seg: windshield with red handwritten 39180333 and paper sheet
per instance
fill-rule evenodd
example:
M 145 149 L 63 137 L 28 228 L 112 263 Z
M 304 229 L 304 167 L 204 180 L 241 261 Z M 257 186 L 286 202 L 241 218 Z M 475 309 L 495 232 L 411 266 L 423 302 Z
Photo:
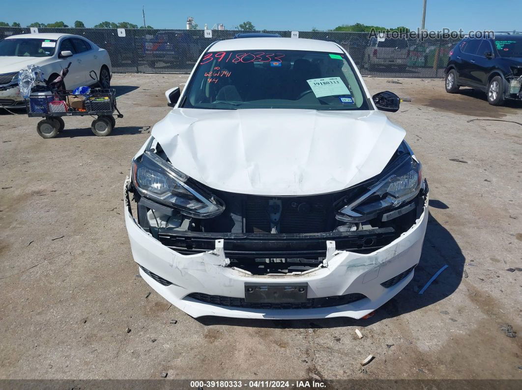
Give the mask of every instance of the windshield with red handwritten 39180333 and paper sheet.
M 346 56 L 307 51 L 208 52 L 180 107 L 368 110 Z

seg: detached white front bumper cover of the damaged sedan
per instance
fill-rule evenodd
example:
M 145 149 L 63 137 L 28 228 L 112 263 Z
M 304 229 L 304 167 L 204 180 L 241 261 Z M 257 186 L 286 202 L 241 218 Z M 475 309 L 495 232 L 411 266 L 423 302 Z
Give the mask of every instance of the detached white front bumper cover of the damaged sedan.
M 127 182 L 128 183 L 128 182 Z M 127 183 L 125 191 L 127 191 Z M 252 275 L 231 268 L 223 251 L 223 240 L 216 249 L 183 255 L 162 245 L 144 231 L 133 218 L 125 193 L 125 224 L 134 260 L 143 279 L 161 296 L 192 317 L 221 316 L 256 319 L 309 319 L 351 317 L 359 319 L 394 297 L 413 278 L 428 222 L 428 196 L 420 218 L 396 240 L 370 254 L 335 250 L 329 242 L 326 266 L 293 275 Z M 333 244 L 331 244 L 333 243 Z M 144 270 L 145 269 L 145 270 Z M 410 270 L 408 273 L 405 271 Z M 152 276 L 151 276 L 152 275 Z M 397 275 L 402 279 L 385 287 Z M 158 278 L 159 277 L 159 278 Z M 396 278 L 399 279 L 399 278 Z M 158 280 L 171 284 L 163 285 Z M 245 283 L 306 283 L 308 298 L 363 294 L 365 298 L 349 304 L 306 309 L 269 309 L 220 306 L 188 297 L 189 294 L 245 297 Z

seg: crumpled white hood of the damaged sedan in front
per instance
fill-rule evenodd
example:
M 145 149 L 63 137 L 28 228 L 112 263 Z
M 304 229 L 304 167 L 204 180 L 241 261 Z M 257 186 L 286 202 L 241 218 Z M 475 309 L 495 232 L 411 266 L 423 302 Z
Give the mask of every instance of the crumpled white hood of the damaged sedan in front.
M 405 131 L 379 111 L 176 108 L 152 129 L 172 165 L 217 190 L 341 191 L 380 173 Z

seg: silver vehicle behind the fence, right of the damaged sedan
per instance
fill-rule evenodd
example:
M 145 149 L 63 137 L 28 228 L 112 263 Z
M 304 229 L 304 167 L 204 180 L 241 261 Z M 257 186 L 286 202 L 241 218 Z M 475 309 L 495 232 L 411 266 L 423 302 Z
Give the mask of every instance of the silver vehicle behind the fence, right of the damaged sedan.
M 373 39 L 370 47 L 366 48 L 364 64 L 368 67 L 406 66 L 408 55 L 408 41 L 406 39 L 390 38 L 384 41 Z

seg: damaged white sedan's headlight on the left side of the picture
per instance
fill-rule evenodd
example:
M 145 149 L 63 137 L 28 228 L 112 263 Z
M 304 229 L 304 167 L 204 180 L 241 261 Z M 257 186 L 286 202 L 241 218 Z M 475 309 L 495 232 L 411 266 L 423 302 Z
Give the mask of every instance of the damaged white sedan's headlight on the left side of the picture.
M 203 188 L 187 185 L 187 175 L 177 171 L 167 161 L 147 150 L 133 160 L 133 183 L 141 195 L 174 207 L 195 218 L 212 218 L 224 210 L 221 200 Z

